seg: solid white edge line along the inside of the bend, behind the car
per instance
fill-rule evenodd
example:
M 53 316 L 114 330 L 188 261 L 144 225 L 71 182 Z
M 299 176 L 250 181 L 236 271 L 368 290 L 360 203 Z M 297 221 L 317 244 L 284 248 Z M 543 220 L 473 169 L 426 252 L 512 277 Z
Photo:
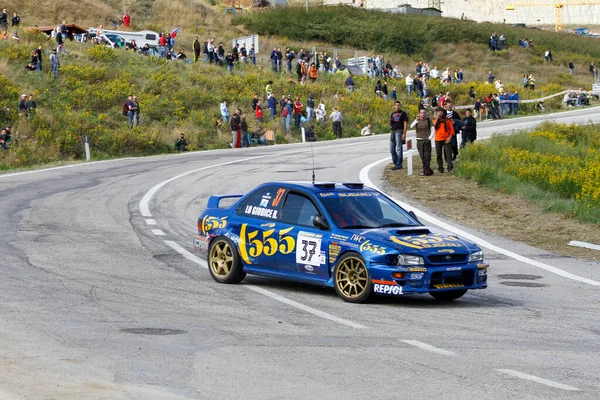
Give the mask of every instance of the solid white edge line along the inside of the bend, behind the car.
M 389 160 L 389 157 L 386 157 L 386 158 L 384 158 L 382 160 L 379 160 L 379 161 L 375 161 L 374 163 L 371 163 L 371 164 L 367 165 L 366 167 L 364 167 L 360 171 L 360 175 L 359 175 L 360 176 L 360 181 L 362 183 L 364 183 L 365 185 L 372 187 L 373 189 L 379 190 L 379 188 L 377 186 L 375 186 L 375 184 L 373 183 L 373 181 L 371 181 L 371 179 L 369 179 L 369 171 L 375 165 L 381 164 L 382 162 L 385 162 L 387 160 Z M 446 222 L 443 222 L 443 221 L 435 218 L 434 216 L 431 216 L 431 215 L 425 213 L 424 211 L 421 211 L 421 210 L 419 210 L 419 209 L 417 209 L 415 207 L 412 207 L 410 204 L 404 203 L 404 202 L 402 202 L 402 201 L 400 201 L 398 199 L 394 199 L 392 197 L 390 197 L 390 198 L 393 201 L 395 201 L 396 203 L 398 203 L 398 205 L 400 205 L 400 207 L 404 208 L 405 210 L 412 210 L 412 211 L 414 211 L 414 213 L 417 215 L 417 217 L 419 217 L 419 219 L 428 221 L 428 222 L 430 222 L 430 223 L 432 223 L 434 225 L 439 226 L 440 228 L 443 228 L 443 229 L 445 229 L 447 231 L 456 233 L 457 235 L 462 236 L 463 238 L 468 239 L 468 240 L 470 240 L 470 241 L 472 241 L 474 243 L 477 243 L 478 245 L 480 245 L 482 247 L 485 247 L 486 249 L 495 251 L 496 253 L 504 254 L 505 256 L 508 256 L 510 258 L 514 258 L 515 260 L 520 261 L 522 263 L 533 265 L 534 267 L 541 268 L 541 269 L 546 270 L 548 272 L 552 272 L 553 274 L 562 276 L 563 278 L 572 279 L 572 280 L 578 281 L 578 282 L 583 282 L 583 283 L 586 283 L 586 284 L 592 285 L 592 286 L 600 286 L 600 282 L 598 282 L 598 281 L 594 281 L 592 279 L 584 278 L 582 276 L 578 276 L 578 275 L 572 274 L 570 272 L 563 271 L 560 268 L 556 268 L 556 267 L 553 267 L 551 265 L 544 264 L 544 263 L 541 263 L 541 262 L 536 261 L 536 260 L 532 260 L 531 258 L 524 257 L 524 256 L 522 256 L 520 254 L 517 254 L 517 253 L 513 253 L 510 250 L 503 249 L 502 247 L 496 246 L 496 245 L 494 245 L 494 244 L 492 244 L 492 243 L 490 243 L 490 242 L 488 242 L 486 240 L 483 240 L 483 239 L 481 239 L 481 238 L 479 238 L 479 237 L 477 237 L 477 236 L 475 236 L 473 234 L 470 234 L 470 233 L 468 233 L 466 231 L 463 231 L 462 229 L 459 229 L 459 228 L 457 228 L 457 227 L 455 227 L 453 225 L 450 225 L 450 224 L 448 224 Z

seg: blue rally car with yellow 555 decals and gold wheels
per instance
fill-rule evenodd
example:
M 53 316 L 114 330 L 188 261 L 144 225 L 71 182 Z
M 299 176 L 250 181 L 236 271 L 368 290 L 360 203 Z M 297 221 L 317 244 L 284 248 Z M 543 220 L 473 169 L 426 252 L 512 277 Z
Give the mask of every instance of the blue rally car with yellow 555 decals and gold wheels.
M 450 301 L 487 287 L 477 245 L 434 232 L 361 183 L 270 182 L 211 196 L 194 247 L 217 282 L 289 279 L 333 287 L 355 303 L 415 293 Z

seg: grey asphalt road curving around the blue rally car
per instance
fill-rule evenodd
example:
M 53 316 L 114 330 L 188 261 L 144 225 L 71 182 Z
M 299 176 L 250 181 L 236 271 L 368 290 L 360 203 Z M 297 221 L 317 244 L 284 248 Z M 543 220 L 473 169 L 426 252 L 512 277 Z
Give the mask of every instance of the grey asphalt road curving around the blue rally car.
M 553 119 L 600 113 L 479 134 Z M 387 135 L 314 145 L 317 179 L 406 201 L 382 181 L 387 156 Z M 486 247 L 489 289 L 355 305 L 253 277 L 220 285 L 190 255 L 209 195 L 311 174 L 299 144 L 0 175 L 0 399 L 600 398 L 598 263 L 428 210 Z

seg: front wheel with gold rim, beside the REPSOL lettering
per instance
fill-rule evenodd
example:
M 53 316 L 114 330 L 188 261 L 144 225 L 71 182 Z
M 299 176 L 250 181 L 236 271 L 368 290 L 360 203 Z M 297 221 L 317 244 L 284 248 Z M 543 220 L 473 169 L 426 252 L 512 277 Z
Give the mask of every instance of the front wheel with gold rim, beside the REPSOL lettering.
M 360 254 L 346 253 L 333 270 L 333 286 L 342 300 L 364 303 L 371 296 L 373 285 L 365 260 Z

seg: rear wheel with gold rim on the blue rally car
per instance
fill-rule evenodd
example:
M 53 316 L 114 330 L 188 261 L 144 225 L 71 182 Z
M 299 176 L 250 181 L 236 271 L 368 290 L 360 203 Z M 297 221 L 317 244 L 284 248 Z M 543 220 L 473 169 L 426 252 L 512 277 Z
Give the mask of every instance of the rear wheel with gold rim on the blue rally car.
M 219 283 L 240 283 L 246 277 L 237 249 L 226 237 L 217 237 L 210 243 L 208 270 Z

